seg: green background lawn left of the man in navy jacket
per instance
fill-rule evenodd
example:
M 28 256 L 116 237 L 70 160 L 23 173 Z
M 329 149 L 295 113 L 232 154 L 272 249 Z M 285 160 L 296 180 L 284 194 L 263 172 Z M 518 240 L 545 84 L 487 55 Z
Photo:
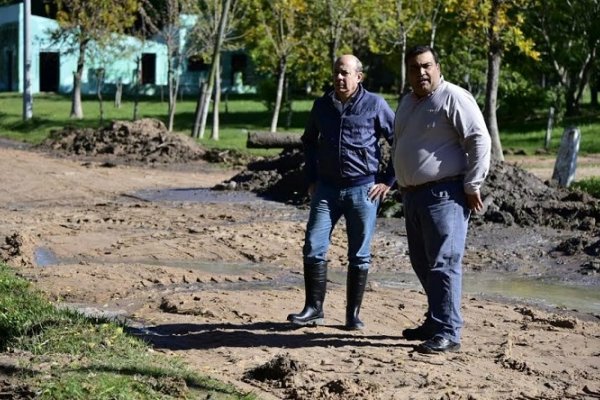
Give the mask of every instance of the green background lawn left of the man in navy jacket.
M 108 99 L 107 99 L 108 100 Z M 84 119 L 69 118 L 71 100 L 69 96 L 59 94 L 36 94 L 34 96 L 33 118 L 23 121 L 22 97 L 18 93 L 0 93 L 0 136 L 27 143 L 40 143 L 52 130 L 63 129 L 66 126 L 76 128 L 99 128 L 100 110 L 94 97 L 83 97 Z M 312 99 L 297 100 L 293 103 L 293 113 L 289 128 L 281 131 L 301 133 Z M 120 108 L 114 107 L 111 101 L 104 103 L 104 124 L 112 120 L 131 120 L 133 118 L 134 102 L 124 99 Z M 185 135 L 191 135 L 194 125 L 196 99 L 184 98 L 176 105 L 176 115 L 173 130 Z M 212 113 L 207 119 L 204 138 L 199 142 L 208 148 L 237 149 L 256 155 L 273 155 L 278 150 L 246 149 L 247 131 L 268 130 L 271 124 L 271 114 L 263 102 L 256 96 L 236 95 L 223 100 L 220 107 L 219 140 L 210 139 L 212 129 Z M 140 118 L 156 118 L 167 122 L 167 102 L 160 98 L 144 98 L 139 105 Z M 280 117 L 280 125 L 284 125 L 287 116 Z

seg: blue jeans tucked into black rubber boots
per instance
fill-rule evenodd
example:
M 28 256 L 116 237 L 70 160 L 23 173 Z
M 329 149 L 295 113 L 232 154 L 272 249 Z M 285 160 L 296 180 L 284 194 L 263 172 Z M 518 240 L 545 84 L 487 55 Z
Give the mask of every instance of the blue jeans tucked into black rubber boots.
M 305 264 L 327 261 L 333 228 L 344 216 L 348 235 L 350 268 L 369 269 L 371 237 L 375 230 L 379 200 L 369 200 L 372 183 L 337 188 L 318 182 L 310 202 L 302 254 Z

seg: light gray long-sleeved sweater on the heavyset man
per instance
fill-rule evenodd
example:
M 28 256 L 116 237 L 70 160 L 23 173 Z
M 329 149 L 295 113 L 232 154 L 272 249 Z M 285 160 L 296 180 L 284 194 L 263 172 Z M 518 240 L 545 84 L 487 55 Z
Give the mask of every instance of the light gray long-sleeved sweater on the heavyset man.
M 399 186 L 464 175 L 465 193 L 479 191 L 490 166 L 491 140 L 473 96 L 441 80 L 427 97 L 402 98 L 392 146 Z

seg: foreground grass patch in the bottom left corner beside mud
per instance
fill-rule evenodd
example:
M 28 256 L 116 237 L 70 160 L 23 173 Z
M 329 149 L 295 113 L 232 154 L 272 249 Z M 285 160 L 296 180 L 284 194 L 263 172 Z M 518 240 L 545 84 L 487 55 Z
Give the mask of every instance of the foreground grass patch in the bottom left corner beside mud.
M 153 352 L 119 324 L 57 309 L 2 263 L 0 290 L 0 350 L 30 355 L 13 373 L 37 398 L 256 398 Z

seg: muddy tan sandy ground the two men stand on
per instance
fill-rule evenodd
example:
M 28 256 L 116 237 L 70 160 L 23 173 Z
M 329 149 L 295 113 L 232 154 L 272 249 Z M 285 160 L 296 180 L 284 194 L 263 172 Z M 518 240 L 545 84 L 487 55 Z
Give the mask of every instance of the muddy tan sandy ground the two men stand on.
M 0 168 L 0 237 L 20 273 L 57 304 L 114 315 L 156 349 L 262 399 L 600 398 L 594 312 L 465 295 L 462 351 L 416 353 L 401 331 L 420 320 L 423 293 L 381 278 L 411 275 L 400 219 L 379 221 L 366 329 L 340 329 L 342 227 L 330 251 L 327 325 L 292 329 L 285 317 L 304 299 L 306 209 L 205 191 L 204 201 L 147 201 L 150 190 L 209 188 L 236 172 L 202 162 L 107 168 L 0 148 Z M 553 253 L 561 235 L 474 226 L 465 269 L 598 287 L 578 274 L 584 260 Z

